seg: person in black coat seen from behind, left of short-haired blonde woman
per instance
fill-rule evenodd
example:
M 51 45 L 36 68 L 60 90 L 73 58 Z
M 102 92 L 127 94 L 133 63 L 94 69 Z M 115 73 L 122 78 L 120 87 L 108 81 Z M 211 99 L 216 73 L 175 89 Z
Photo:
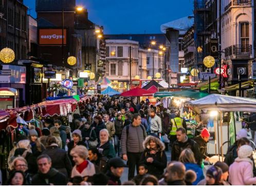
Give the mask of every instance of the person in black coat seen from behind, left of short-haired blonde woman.
M 67 178 L 70 176 L 72 165 L 67 153 L 58 147 L 57 139 L 53 136 L 47 138 L 47 149 L 43 154 L 51 158 L 52 167 L 64 174 Z

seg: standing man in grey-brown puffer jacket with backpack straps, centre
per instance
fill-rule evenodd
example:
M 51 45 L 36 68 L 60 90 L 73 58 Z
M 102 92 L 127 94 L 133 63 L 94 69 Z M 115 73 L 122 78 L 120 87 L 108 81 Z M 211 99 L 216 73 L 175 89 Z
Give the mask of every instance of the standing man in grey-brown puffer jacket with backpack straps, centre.
M 134 114 L 132 124 L 127 125 L 122 130 L 121 146 L 123 159 L 128 160 L 129 166 L 128 180 L 134 178 L 135 167 L 138 174 L 141 154 L 144 151 L 143 141 L 147 137 L 147 132 L 141 125 L 141 117 Z

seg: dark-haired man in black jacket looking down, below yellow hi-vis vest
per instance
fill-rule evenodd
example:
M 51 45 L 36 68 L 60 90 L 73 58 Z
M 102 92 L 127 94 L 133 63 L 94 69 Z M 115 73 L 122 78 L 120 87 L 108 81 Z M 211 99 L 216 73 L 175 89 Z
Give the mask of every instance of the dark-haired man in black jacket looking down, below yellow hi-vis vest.
M 178 128 L 176 130 L 177 140 L 172 144 L 172 158 L 171 160 L 179 160 L 179 156 L 182 150 L 185 148 L 190 148 L 191 151 L 194 153 L 195 160 L 197 164 L 200 165 L 202 160 L 200 157 L 199 147 L 198 144 L 187 137 L 186 129 L 185 128 Z

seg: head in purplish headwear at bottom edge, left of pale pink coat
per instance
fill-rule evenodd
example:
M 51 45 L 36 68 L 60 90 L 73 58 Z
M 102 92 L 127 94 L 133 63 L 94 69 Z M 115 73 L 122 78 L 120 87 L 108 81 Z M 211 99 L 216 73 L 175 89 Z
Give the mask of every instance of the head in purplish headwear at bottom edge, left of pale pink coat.
M 221 182 L 222 171 L 219 167 L 211 166 L 206 171 L 206 184 L 207 185 L 218 185 Z

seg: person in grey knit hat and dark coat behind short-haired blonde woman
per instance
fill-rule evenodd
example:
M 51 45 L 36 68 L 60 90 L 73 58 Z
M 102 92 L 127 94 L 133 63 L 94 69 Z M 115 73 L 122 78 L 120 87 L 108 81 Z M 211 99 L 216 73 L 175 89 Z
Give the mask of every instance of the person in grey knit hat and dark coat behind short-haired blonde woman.
M 72 156 L 70 155 L 70 151 L 72 148 L 76 147 L 77 145 L 83 145 L 86 147 L 86 144 L 82 141 L 82 134 L 81 130 L 76 129 L 72 132 L 72 138 L 73 140 L 68 143 L 67 145 L 67 155 L 69 157 L 69 160 L 71 161 L 72 166 L 75 165 L 75 162 L 73 161 Z

